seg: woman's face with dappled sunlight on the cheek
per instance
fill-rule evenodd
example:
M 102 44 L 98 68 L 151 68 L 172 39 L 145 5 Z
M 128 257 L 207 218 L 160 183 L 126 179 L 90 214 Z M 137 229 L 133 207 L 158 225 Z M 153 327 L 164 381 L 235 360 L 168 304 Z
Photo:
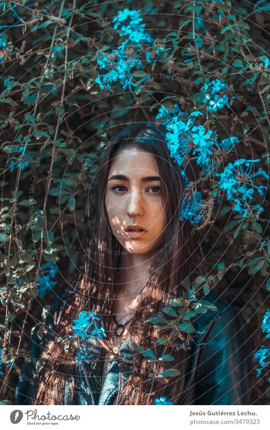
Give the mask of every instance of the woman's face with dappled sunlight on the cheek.
M 167 219 L 159 175 L 155 157 L 137 147 L 122 150 L 110 163 L 105 207 L 112 233 L 131 253 L 155 254 L 163 242 Z

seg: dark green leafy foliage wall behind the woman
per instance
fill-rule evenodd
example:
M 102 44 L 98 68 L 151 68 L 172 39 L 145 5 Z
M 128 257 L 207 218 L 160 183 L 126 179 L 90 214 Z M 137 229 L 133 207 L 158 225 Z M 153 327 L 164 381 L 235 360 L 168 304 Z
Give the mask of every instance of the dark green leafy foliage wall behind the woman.
M 112 31 L 113 17 L 124 8 L 133 10 L 134 2 L 0 5 L 0 329 L 2 360 L 8 356 L 1 375 L 2 380 L 8 376 L 0 397 L 4 403 L 13 403 L 31 330 L 45 321 L 44 306 L 66 288 L 78 264 L 79 238 L 95 208 L 102 147 L 115 126 L 155 122 L 161 102 L 169 109 L 177 103 L 188 111 L 197 103 L 198 93 L 190 82 L 203 85 L 224 76 L 242 97 L 232 99 L 229 110 L 217 111 L 214 122 L 206 120 L 222 138 L 239 138 L 239 158 L 260 158 L 260 166 L 268 168 L 267 2 L 136 2 L 145 31 L 154 41 L 148 50 L 151 63 L 144 61 L 140 50 L 144 72 L 156 75 L 144 82 L 134 77 L 131 91 L 123 91 L 120 82 L 101 90 L 95 82 L 100 73 L 97 57 L 125 40 L 125 35 Z M 202 191 L 206 196 L 209 190 Z M 260 324 L 269 306 L 267 197 L 237 264 L 232 265 L 233 256 L 250 225 L 238 228 L 239 219 L 225 204 L 215 207 L 211 228 L 197 232 L 206 257 L 205 288 L 215 288 L 241 309 L 252 331 L 251 354 L 263 342 L 266 345 Z M 48 288 L 43 294 L 38 285 L 45 276 L 53 291 Z M 38 329 L 42 337 L 43 325 Z M 253 365 L 251 403 L 268 403 L 267 376 L 256 377 Z

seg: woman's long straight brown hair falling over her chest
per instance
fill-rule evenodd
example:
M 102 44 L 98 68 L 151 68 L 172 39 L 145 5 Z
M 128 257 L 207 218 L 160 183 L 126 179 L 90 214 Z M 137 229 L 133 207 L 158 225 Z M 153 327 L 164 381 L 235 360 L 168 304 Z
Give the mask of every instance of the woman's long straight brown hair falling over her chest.
M 152 153 L 157 161 L 161 181 L 161 193 L 164 209 L 167 214 L 167 225 L 164 242 L 151 261 L 149 276 L 146 284 L 147 294 L 137 310 L 134 311 L 129 328 L 129 336 L 136 339 L 138 345 L 144 349 L 152 348 L 157 357 L 160 357 L 164 346 L 157 344 L 158 330 L 145 320 L 158 315 L 162 307 L 169 304 L 171 298 L 184 294 L 181 282 L 194 276 L 196 258 L 189 221 L 180 221 L 180 211 L 184 182 L 179 166 L 174 163 L 165 140 L 165 129 L 157 128 L 151 123 L 134 124 L 124 127 L 111 138 L 112 144 L 107 145 L 101 157 L 101 166 L 98 172 L 98 196 L 96 216 L 89 215 L 83 242 L 83 255 L 81 269 L 77 282 L 71 285 L 67 299 L 62 308 L 61 318 L 57 325 L 59 336 L 72 335 L 73 319 L 78 318 L 82 310 L 94 311 L 102 317 L 106 337 L 100 340 L 102 357 L 106 352 L 112 351 L 113 342 L 107 332 L 108 321 L 112 312 L 113 299 L 117 293 L 114 279 L 118 268 L 121 267 L 120 244 L 108 228 L 104 195 L 107 186 L 108 171 L 111 160 L 118 151 L 127 147 L 139 147 Z M 89 231 L 89 224 L 94 225 Z M 93 227 L 92 227 L 93 228 Z M 98 240 L 97 240 L 98 238 Z M 108 252 L 110 250 L 110 252 Z M 164 334 L 166 336 L 166 333 Z M 76 350 L 71 344 L 66 353 L 60 349 L 59 343 L 50 339 L 41 359 L 59 359 L 63 357 L 69 364 L 58 364 L 50 367 L 50 361 L 37 373 L 35 377 L 34 404 L 61 405 L 64 404 L 64 390 L 67 377 L 72 380 L 69 403 L 75 390 L 76 363 L 74 362 Z M 160 354 L 160 355 L 159 355 Z M 165 396 L 177 403 L 184 386 L 186 371 L 186 351 L 181 348 L 174 352 L 173 362 L 159 361 L 148 363 L 142 354 L 134 355 L 133 369 L 126 384 L 120 386 L 117 404 L 146 405 L 153 404 L 155 397 Z M 175 367 L 180 375 L 169 378 L 166 385 L 158 380 L 149 381 L 149 373 L 161 373 L 165 369 Z M 52 371 L 53 370 L 53 371 Z M 155 396 L 149 396 L 149 392 Z

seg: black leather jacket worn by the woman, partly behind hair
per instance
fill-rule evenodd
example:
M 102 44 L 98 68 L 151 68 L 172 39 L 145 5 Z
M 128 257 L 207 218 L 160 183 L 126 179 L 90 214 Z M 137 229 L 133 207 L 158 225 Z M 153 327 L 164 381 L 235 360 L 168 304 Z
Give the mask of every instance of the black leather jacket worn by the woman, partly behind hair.
M 250 330 L 236 308 L 215 292 L 211 291 L 202 298 L 215 304 L 217 311 L 208 310 L 192 320 L 196 334 L 187 351 L 185 386 L 176 404 L 249 405 L 252 360 Z M 52 314 L 53 312 L 47 319 L 50 327 L 53 327 Z M 32 404 L 35 363 L 44 348 L 45 339 L 46 337 L 40 341 L 36 335 L 33 336 L 30 354 L 34 360 L 24 362 L 16 388 L 15 405 Z M 136 351 L 136 345 L 131 344 L 127 337 L 120 347 L 120 353 L 126 359 L 125 364 L 120 364 L 120 374 L 124 381 L 132 372 L 134 350 Z M 93 367 L 90 369 L 87 362 L 78 362 L 79 376 L 76 379 L 73 401 L 70 403 L 71 379 L 67 376 L 64 404 L 114 404 L 119 386 L 119 363 L 116 360 L 111 362 L 101 388 L 95 376 L 101 374 L 102 367 L 101 360 L 96 361 L 94 370 Z

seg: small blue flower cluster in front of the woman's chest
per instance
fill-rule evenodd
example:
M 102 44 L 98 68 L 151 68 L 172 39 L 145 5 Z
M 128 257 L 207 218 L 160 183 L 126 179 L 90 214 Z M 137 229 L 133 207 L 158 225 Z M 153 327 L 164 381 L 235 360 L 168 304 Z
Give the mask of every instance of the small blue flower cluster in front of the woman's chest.
M 101 321 L 101 318 L 96 317 L 94 312 L 82 310 L 79 314 L 78 319 L 73 320 L 74 325 L 72 326 L 72 330 L 75 333 L 75 336 L 78 336 L 79 343 L 79 352 L 76 355 L 76 360 L 86 360 L 93 357 L 91 354 L 91 346 L 89 347 L 85 340 L 86 339 L 103 339 L 105 337 L 104 327 L 101 325 L 98 327 L 96 321 Z M 70 339 L 73 339 L 74 336 L 70 335 Z

